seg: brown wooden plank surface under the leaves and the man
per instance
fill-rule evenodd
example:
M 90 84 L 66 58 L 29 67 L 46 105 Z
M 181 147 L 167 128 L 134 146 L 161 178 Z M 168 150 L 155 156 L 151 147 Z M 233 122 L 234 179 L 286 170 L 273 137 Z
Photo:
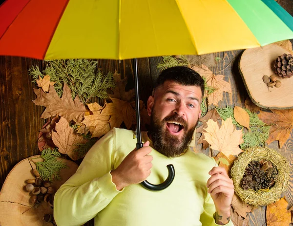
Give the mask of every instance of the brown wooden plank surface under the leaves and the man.
M 293 15 L 293 0 L 277 0 L 277 2 Z M 231 28 L 233 29 L 233 28 Z M 276 28 L 277 32 L 277 28 Z M 216 34 L 215 34 L 216 36 Z M 243 51 L 229 51 L 215 53 L 215 57 L 223 60 L 217 62 L 211 70 L 225 75 L 225 80 L 232 86 L 232 94 L 225 94 L 220 107 L 244 106 L 244 100 L 248 96 L 243 81 L 238 72 L 238 59 Z M 140 99 L 145 103 L 152 92 L 153 82 L 159 74 L 157 69 L 161 57 L 138 59 Z M 131 60 L 98 60 L 102 71 L 114 72 L 117 70 L 122 75 L 128 76 L 126 89 L 133 88 L 133 69 Z M 33 104 L 36 98 L 33 93 L 35 85 L 31 82 L 28 69 L 38 65 L 42 71 L 44 65 L 41 60 L 24 57 L 0 57 L 0 188 L 9 171 L 22 159 L 39 154 L 37 137 L 39 130 L 45 121 L 40 119 L 41 106 Z M 273 142 L 269 147 L 277 149 L 290 161 L 291 167 L 291 187 L 287 193 L 293 193 L 293 134 L 280 150 L 277 142 Z M 199 150 L 201 147 L 198 147 Z M 290 196 L 291 197 L 291 196 Z M 293 203 L 293 200 L 289 200 Z M 251 226 L 266 225 L 265 207 L 260 207 L 250 214 Z M 93 225 L 92 221 L 87 225 Z

